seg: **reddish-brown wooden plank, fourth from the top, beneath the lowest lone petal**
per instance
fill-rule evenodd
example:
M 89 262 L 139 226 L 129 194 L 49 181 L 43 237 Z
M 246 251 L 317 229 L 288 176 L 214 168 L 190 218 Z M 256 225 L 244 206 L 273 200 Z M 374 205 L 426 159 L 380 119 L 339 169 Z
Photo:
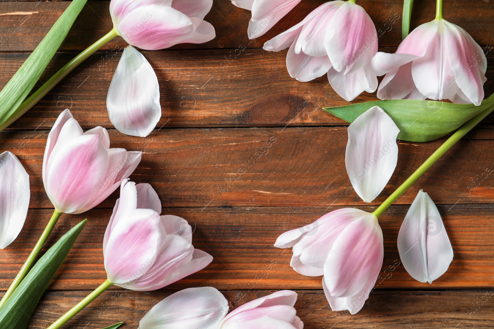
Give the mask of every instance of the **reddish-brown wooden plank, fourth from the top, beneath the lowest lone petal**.
M 321 289 L 321 277 L 307 277 L 289 266 L 291 250 L 274 248 L 283 232 L 310 224 L 339 207 L 163 208 L 194 229 L 193 243 L 214 257 L 206 269 L 169 286 L 184 289 L 210 285 L 227 290 Z M 374 207 L 359 207 L 372 211 Z M 494 285 L 494 205 L 439 205 L 454 258 L 448 271 L 431 285 L 412 279 L 400 264 L 396 239 L 409 206 L 392 206 L 379 219 L 384 261 L 378 289 L 491 289 Z M 72 225 L 87 218 L 73 250 L 49 290 L 91 290 L 106 279 L 102 243 L 111 209 L 63 215 L 47 246 Z M 0 252 L 0 290 L 6 290 L 41 235 L 51 210 L 30 210 L 19 237 Z M 178 222 L 177 225 L 181 225 Z

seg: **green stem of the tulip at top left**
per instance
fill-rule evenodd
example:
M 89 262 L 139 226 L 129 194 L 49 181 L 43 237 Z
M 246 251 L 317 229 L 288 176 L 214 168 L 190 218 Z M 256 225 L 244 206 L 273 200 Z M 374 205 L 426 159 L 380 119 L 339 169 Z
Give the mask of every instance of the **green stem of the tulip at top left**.
M 20 118 L 24 113 L 38 103 L 41 98 L 44 97 L 60 80 L 62 80 L 67 74 L 72 72 L 79 64 L 81 64 L 86 58 L 94 54 L 102 46 L 110 42 L 114 37 L 117 37 L 118 33 L 115 28 L 108 32 L 104 37 L 87 47 L 82 53 L 74 57 L 69 63 L 67 63 L 63 68 L 58 70 L 57 73 L 53 74 L 52 77 L 48 79 L 43 85 L 35 91 L 31 96 L 26 98 L 24 102 L 19 105 L 19 107 L 12 113 L 10 118 L 6 120 L 2 125 L 0 125 L 0 131 L 8 127 L 12 122 Z

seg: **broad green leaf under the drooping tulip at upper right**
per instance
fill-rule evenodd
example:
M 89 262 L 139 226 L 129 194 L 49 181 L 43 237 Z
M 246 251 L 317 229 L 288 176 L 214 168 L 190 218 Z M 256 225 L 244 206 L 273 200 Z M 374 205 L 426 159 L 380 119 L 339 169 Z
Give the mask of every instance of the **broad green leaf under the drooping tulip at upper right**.
M 483 110 L 494 104 L 494 94 L 473 104 L 452 104 L 437 101 L 388 100 L 324 108 L 329 113 L 352 123 L 360 114 L 373 106 L 383 109 L 400 129 L 402 141 L 428 142 L 448 135 Z

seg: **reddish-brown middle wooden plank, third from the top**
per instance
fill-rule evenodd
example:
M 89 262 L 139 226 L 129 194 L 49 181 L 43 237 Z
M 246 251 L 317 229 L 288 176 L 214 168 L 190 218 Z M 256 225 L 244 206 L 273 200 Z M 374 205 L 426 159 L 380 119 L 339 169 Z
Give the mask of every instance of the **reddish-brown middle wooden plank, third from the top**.
M 397 204 L 411 204 L 420 188 L 438 204 L 491 203 L 494 141 L 493 131 L 488 133 L 490 140 L 470 135 L 458 142 Z M 147 138 L 109 134 L 112 147 L 144 152 L 131 179 L 152 183 L 165 207 L 364 204 L 346 173 L 344 127 L 161 129 Z M 41 179 L 47 135 L 0 133 L 2 149 L 17 154 L 31 177 L 31 208 L 52 207 Z M 395 174 L 372 204 L 383 202 L 442 143 L 400 142 Z M 116 197 L 100 207 L 112 208 Z

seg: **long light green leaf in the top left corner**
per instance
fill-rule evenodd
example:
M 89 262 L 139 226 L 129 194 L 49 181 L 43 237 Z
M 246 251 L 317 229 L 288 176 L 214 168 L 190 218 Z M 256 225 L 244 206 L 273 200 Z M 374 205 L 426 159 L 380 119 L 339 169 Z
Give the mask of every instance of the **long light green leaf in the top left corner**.
M 41 77 L 87 0 L 73 0 L 0 92 L 0 130 L 19 118 L 15 110 Z M 27 36 L 29 37 L 29 36 Z

